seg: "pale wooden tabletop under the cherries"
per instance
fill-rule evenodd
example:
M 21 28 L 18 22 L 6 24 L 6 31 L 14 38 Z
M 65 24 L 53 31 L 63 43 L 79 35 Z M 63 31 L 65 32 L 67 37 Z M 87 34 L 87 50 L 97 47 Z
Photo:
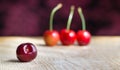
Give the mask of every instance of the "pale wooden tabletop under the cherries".
M 16 48 L 24 42 L 37 46 L 31 62 L 19 62 Z M 88 46 L 45 46 L 41 37 L 0 37 L 0 70 L 120 70 L 120 37 L 93 36 Z

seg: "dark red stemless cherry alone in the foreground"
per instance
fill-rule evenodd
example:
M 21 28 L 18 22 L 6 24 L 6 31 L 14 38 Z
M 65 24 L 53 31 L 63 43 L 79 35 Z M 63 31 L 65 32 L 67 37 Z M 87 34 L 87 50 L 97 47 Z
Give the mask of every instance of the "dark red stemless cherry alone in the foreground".
M 32 43 L 22 43 L 17 47 L 16 55 L 19 61 L 29 62 L 36 58 L 37 49 Z

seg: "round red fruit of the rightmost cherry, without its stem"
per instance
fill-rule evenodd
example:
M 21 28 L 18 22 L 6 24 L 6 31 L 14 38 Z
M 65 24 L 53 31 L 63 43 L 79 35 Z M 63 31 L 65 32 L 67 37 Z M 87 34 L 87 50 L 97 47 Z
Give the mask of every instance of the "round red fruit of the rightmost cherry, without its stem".
M 90 43 L 91 34 L 86 30 L 79 30 L 77 32 L 77 41 L 81 46 L 88 45 Z

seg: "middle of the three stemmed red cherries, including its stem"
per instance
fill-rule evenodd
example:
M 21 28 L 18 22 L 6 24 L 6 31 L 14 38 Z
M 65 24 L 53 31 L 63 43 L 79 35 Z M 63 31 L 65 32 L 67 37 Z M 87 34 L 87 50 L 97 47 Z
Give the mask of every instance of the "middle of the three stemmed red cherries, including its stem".
M 76 34 L 73 30 L 70 30 L 71 21 L 74 14 L 74 6 L 71 6 L 67 28 L 60 31 L 60 40 L 63 45 L 72 45 L 76 40 Z

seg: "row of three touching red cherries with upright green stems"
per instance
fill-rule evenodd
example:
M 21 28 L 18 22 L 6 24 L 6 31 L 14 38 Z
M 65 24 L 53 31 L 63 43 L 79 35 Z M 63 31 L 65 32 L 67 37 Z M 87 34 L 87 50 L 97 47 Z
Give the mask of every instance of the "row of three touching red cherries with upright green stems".
M 62 7 L 62 4 L 58 4 L 55 8 L 53 8 L 51 15 L 50 15 L 50 29 L 45 31 L 43 37 L 45 44 L 47 46 L 54 46 L 58 43 L 60 40 L 63 45 L 72 45 L 74 44 L 75 40 L 77 39 L 77 42 L 79 45 L 88 45 L 91 39 L 91 34 L 86 30 L 85 25 L 85 19 L 82 13 L 82 9 L 78 8 L 78 13 L 80 15 L 81 21 L 82 21 L 82 30 L 79 30 L 77 33 L 75 33 L 73 30 L 70 30 L 71 21 L 74 14 L 74 6 L 71 6 L 70 8 L 70 14 L 68 17 L 67 27 L 66 29 L 62 29 L 59 32 L 56 30 L 53 30 L 53 16 L 54 13 L 59 10 Z

